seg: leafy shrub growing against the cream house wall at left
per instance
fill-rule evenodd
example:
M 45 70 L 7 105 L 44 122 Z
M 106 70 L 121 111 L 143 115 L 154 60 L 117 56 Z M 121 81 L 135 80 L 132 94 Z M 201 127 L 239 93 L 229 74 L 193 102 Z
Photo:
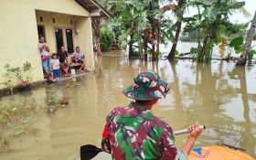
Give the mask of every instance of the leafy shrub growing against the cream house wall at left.
M 16 87 L 19 91 L 31 90 L 31 78 L 29 76 L 31 64 L 26 62 L 22 67 L 11 67 L 9 64 L 5 65 L 6 76 L 16 79 Z

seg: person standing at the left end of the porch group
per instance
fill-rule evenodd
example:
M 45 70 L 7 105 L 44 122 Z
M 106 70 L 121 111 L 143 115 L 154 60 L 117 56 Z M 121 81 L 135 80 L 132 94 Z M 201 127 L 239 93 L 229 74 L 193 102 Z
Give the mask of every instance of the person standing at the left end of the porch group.
M 48 74 L 48 81 L 55 81 L 53 79 L 52 70 L 50 69 L 50 66 L 49 66 L 49 54 L 48 54 L 49 48 L 47 43 L 45 42 L 45 37 L 43 36 L 39 37 L 38 48 L 41 55 L 43 69 Z

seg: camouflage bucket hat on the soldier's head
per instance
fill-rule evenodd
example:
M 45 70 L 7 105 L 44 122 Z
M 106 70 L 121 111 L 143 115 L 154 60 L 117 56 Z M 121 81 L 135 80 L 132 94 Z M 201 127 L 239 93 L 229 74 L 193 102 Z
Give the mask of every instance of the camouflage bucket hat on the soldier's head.
M 165 98 L 169 85 L 160 80 L 157 73 L 144 71 L 133 79 L 133 85 L 123 90 L 123 94 L 133 100 L 149 101 Z

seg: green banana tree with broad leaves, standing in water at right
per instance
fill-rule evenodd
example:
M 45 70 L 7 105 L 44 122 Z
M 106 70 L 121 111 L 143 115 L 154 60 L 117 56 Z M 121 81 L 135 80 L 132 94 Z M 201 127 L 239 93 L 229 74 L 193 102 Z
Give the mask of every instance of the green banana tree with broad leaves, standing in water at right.
M 211 59 L 212 48 L 218 45 L 221 40 L 221 34 L 229 32 L 230 35 L 239 32 L 239 27 L 229 21 L 229 15 L 233 11 L 240 9 L 244 2 L 232 2 L 229 0 L 215 1 L 193 1 L 188 2 L 189 5 L 197 5 L 203 9 L 203 12 L 195 16 L 188 17 L 185 30 L 193 31 L 200 28 L 202 34 L 202 45 L 197 47 L 197 61 L 208 62 Z M 201 16 L 201 20 L 198 17 Z M 186 19 L 186 18 L 185 18 Z M 199 23 L 198 23 L 199 22 Z

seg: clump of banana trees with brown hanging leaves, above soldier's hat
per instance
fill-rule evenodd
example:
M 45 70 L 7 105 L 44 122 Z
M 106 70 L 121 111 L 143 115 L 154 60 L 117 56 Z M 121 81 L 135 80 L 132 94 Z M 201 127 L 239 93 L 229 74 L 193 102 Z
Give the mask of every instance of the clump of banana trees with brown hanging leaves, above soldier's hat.
M 120 27 L 123 30 L 120 40 L 129 46 L 130 59 L 135 56 L 134 50 L 138 50 L 138 55 L 145 60 L 147 51 L 150 50 L 152 58 L 157 59 L 160 52 L 159 44 L 162 42 L 162 29 L 169 22 L 162 19 L 161 14 L 158 1 L 140 0 L 123 3 L 119 16 Z M 166 30 L 168 29 L 163 30 L 163 35 Z M 127 41 L 126 37 L 130 39 Z

